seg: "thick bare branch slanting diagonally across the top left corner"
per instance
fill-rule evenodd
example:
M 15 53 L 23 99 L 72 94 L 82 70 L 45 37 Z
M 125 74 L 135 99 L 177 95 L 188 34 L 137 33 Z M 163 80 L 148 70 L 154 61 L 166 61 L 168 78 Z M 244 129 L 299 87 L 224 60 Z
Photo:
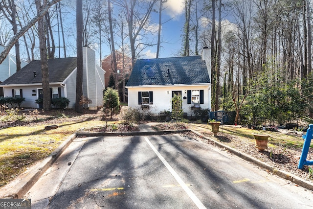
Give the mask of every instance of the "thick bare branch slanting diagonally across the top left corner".
M 11 48 L 14 46 L 14 44 L 19 40 L 19 38 L 22 37 L 22 35 L 29 29 L 31 28 L 35 23 L 40 20 L 45 13 L 48 11 L 48 9 L 55 3 L 59 2 L 61 0 L 51 0 L 49 1 L 46 6 L 43 8 L 43 10 L 36 16 L 34 17 L 27 25 L 22 27 L 22 29 L 17 32 L 9 41 L 9 43 L 4 47 L 4 50 L 0 54 L 0 64 L 5 60 L 7 55 L 9 54 Z

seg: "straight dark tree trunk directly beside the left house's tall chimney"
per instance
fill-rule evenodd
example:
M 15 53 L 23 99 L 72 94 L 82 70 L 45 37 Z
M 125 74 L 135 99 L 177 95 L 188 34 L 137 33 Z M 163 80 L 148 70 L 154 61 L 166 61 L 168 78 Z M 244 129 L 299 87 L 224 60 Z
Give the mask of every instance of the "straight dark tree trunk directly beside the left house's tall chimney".
M 75 111 L 83 113 L 83 106 L 80 105 L 80 99 L 83 96 L 83 0 L 76 1 L 76 25 L 77 72 Z

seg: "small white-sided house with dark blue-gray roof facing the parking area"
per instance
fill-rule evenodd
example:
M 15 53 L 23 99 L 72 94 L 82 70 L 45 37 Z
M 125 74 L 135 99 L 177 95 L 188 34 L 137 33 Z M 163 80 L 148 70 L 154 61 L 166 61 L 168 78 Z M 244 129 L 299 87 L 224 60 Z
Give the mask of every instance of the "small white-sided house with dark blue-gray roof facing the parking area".
M 201 56 L 137 60 L 128 80 L 128 106 L 157 115 L 172 111 L 172 97 L 182 97 L 182 109 L 193 116 L 195 108 L 211 109 L 208 48 Z

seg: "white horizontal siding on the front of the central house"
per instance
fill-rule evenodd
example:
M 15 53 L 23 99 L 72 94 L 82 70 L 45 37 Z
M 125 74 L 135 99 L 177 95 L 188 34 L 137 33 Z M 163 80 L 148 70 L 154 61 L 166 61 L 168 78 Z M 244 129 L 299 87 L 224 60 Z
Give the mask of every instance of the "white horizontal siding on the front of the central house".
M 210 99 L 211 98 L 211 85 L 203 86 L 162 86 L 162 87 L 128 87 L 128 106 L 131 108 L 141 109 L 141 105 L 138 104 L 138 92 L 153 92 L 153 104 L 149 105 L 149 110 L 144 108 L 144 111 L 150 111 L 150 113 L 157 115 L 160 112 L 166 110 L 172 112 L 172 91 L 181 91 L 182 109 L 187 116 L 193 115 L 191 106 L 194 104 L 187 104 L 187 91 L 188 90 L 203 90 L 203 101 L 204 104 L 200 104 L 202 109 L 211 109 Z M 167 93 L 169 92 L 169 93 Z

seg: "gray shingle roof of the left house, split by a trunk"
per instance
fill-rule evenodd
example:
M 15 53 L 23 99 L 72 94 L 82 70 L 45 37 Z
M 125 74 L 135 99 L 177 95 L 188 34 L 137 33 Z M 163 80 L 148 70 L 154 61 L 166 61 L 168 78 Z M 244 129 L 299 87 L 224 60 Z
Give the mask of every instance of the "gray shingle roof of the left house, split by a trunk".
M 49 82 L 59 83 L 64 81 L 67 76 L 75 70 L 77 65 L 76 57 L 48 59 Z M 34 77 L 34 72 L 36 76 Z M 10 84 L 37 84 L 42 83 L 41 61 L 34 60 L 23 67 L 18 72 L 1 83 Z

